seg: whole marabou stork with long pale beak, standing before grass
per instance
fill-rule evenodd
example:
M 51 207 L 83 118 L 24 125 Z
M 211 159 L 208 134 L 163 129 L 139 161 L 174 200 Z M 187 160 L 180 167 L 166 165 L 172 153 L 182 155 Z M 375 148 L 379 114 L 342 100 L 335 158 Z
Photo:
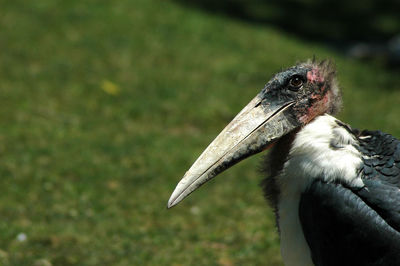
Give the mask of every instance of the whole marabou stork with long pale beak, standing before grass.
M 400 141 L 334 118 L 335 67 L 276 74 L 186 172 L 168 207 L 270 147 L 264 194 L 285 265 L 400 265 Z

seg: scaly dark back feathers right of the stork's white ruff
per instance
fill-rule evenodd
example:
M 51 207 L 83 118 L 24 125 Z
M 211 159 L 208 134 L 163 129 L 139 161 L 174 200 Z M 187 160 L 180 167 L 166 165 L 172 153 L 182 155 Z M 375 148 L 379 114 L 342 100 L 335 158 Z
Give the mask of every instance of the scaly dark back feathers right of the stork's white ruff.
M 365 187 L 354 192 L 400 232 L 400 141 L 390 134 L 368 130 L 361 132 L 358 140 Z

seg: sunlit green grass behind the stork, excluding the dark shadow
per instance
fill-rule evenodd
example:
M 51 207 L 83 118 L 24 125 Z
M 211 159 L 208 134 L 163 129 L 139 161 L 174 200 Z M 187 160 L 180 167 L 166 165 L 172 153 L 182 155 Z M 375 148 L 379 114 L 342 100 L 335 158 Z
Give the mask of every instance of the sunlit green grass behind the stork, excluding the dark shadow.
M 260 156 L 166 203 L 270 76 L 313 55 L 337 62 L 341 119 L 400 136 L 394 73 L 271 27 L 162 0 L 0 3 L 1 265 L 281 265 Z

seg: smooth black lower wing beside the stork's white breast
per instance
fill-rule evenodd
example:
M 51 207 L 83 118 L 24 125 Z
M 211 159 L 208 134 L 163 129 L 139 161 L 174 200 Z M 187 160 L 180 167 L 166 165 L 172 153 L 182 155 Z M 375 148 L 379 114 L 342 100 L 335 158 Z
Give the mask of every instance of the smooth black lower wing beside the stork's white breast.
M 400 265 L 400 234 L 352 190 L 316 180 L 299 217 L 315 265 Z

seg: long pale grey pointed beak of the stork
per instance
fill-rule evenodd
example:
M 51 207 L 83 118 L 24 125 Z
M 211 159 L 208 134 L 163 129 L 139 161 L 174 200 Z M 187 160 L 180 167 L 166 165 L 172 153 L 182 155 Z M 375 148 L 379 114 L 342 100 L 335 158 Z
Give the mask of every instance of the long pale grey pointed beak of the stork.
M 297 127 L 290 115 L 293 103 L 268 103 L 263 100 L 262 93 L 257 95 L 185 173 L 168 201 L 168 208 L 178 204 L 222 171 L 263 151 L 269 144 Z

